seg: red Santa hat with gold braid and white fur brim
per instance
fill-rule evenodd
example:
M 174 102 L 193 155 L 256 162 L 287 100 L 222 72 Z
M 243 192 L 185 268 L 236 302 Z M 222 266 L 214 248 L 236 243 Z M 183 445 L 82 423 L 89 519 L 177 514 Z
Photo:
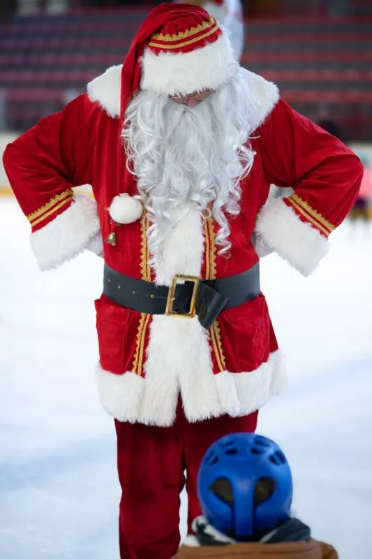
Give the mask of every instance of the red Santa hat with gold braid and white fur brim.
M 137 89 L 190 94 L 216 89 L 236 63 L 229 38 L 198 6 L 162 3 L 137 31 L 121 71 L 121 115 Z

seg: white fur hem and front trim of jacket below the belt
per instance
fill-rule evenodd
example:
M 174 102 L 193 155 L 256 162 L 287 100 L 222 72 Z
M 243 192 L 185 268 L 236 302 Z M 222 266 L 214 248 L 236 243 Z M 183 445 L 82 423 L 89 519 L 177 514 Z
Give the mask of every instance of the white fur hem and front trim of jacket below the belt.
M 114 375 L 97 368 L 101 403 L 106 412 L 119 421 L 171 426 L 179 391 L 188 421 L 202 421 L 223 414 L 245 416 L 260 409 L 284 386 L 280 351 L 270 354 L 267 363 L 262 363 L 255 371 L 224 371 L 214 375 L 209 363 L 209 348 L 204 342 L 198 343 L 200 338 L 206 340 L 207 337 L 205 331 L 204 336 L 200 336 L 198 319 L 181 321 L 163 316 L 154 319 L 161 319 L 162 326 L 167 327 L 163 342 L 158 337 L 156 344 L 154 341 L 151 344 L 150 339 L 145 379 L 133 372 Z M 184 328 L 180 330 L 175 326 L 176 320 Z M 172 331 L 177 335 L 168 342 L 166 336 Z M 151 337 L 153 335 L 151 331 Z M 174 345 L 176 337 L 179 338 L 177 346 Z M 197 347 L 192 346 L 195 342 Z

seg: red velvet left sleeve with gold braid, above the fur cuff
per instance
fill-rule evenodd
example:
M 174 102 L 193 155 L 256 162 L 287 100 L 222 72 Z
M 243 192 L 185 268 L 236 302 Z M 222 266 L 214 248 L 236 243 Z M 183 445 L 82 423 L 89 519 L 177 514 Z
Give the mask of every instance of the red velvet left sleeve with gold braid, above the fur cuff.
M 92 110 L 81 95 L 6 147 L 3 165 L 33 232 L 69 208 L 72 187 L 92 182 Z

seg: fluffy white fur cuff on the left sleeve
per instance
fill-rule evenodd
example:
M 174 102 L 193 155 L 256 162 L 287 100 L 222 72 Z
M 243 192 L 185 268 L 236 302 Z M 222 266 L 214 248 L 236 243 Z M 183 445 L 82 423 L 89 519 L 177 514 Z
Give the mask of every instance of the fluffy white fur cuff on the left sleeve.
M 40 270 L 57 268 L 77 256 L 99 231 L 96 202 L 89 196 L 75 196 L 67 210 L 31 233 L 31 248 Z

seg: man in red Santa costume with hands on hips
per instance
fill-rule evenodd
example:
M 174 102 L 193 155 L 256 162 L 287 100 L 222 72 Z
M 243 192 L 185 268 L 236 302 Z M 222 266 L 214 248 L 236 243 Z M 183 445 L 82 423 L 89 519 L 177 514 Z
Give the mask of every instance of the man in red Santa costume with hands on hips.
M 283 384 L 259 258 L 311 274 L 362 166 L 234 61 L 214 17 L 175 3 L 3 162 L 41 270 L 103 247 L 96 377 L 116 419 L 121 558 L 169 559 L 184 472 L 191 529 L 204 452 L 255 430 Z M 96 201 L 75 196 L 87 183 Z M 268 202 L 271 183 L 295 194 Z

